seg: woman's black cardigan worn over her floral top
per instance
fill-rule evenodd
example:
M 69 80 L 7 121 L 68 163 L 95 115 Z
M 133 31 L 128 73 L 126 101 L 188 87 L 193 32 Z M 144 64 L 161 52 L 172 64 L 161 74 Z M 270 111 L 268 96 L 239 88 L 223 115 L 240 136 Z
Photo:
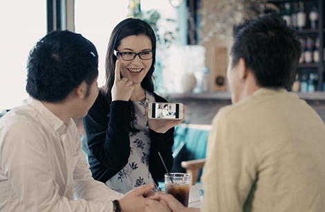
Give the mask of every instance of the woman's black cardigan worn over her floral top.
M 154 93 L 156 102 L 167 103 Z M 116 100 L 108 105 L 109 100 L 100 91 L 93 107 L 84 117 L 89 145 L 89 164 L 93 178 L 106 182 L 127 165 L 130 155 L 130 140 L 127 118 L 127 101 Z M 174 145 L 174 127 L 165 134 L 149 129 L 151 138 L 149 170 L 157 183 L 166 173 L 158 152 L 163 157 L 168 170 L 173 166 L 172 146 Z

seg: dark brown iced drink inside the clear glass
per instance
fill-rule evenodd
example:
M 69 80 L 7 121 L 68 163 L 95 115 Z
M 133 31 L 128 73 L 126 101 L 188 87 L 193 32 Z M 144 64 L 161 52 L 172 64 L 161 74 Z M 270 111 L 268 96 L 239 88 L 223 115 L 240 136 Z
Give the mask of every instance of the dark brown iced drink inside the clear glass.
M 174 182 L 174 184 L 165 184 L 165 193 L 170 193 L 179 202 L 187 207 L 189 204 L 189 183 L 188 182 Z

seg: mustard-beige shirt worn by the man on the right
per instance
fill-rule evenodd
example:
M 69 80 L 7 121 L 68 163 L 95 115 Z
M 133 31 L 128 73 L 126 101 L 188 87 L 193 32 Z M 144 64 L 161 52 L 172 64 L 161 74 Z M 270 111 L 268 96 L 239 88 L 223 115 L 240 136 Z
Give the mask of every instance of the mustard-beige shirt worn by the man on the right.
M 212 121 L 201 211 L 325 211 L 325 125 L 284 89 L 259 89 Z

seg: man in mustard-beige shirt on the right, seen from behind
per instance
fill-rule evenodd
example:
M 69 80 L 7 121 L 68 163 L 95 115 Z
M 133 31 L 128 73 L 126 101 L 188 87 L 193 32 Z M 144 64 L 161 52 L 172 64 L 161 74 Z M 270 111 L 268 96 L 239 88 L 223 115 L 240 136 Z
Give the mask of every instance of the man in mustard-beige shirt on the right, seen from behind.
M 232 105 L 212 121 L 203 171 L 204 212 L 320 212 L 325 209 L 325 125 L 288 92 L 301 47 L 279 15 L 234 28 L 228 66 Z M 171 195 L 147 211 L 187 209 Z

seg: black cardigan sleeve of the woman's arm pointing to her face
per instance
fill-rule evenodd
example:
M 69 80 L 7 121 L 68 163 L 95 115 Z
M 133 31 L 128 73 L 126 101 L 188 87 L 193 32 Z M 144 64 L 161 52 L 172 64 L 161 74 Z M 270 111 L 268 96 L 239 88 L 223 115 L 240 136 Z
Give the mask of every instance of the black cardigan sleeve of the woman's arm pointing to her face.
M 93 177 L 106 182 L 127 165 L 130 141 L 127 101 L 109 105 L 101 92 L 84 118 Z

